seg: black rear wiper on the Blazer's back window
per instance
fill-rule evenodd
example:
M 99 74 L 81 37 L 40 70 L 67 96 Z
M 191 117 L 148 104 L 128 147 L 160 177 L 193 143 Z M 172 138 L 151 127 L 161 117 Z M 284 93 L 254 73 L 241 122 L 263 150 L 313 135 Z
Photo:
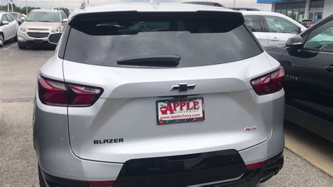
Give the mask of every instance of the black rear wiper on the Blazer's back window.
M 117 60 L 118 65 L 138 65 L 153 67 L 177 67 L 180 56 L 176 55 L 155 55 L 155 56 L 136 56 Z

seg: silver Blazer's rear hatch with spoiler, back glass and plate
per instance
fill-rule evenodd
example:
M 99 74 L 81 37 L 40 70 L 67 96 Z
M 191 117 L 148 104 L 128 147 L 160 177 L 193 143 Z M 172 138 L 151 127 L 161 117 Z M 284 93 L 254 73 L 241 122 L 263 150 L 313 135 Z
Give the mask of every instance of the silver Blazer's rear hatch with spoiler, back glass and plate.
M 269 138 L 272 96 L 250 81 L 272 66 L 240 13 L 111 14 L 77 16 L 65 34 L 65 82 L 103 88 L 68 108 L 75 155 L 126 162 Z

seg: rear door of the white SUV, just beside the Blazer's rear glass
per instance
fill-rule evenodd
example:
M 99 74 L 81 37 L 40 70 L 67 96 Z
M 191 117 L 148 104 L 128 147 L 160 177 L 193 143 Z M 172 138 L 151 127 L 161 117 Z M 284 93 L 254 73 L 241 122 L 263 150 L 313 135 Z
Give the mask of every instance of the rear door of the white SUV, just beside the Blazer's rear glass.
M 268 46 L 268 37 L 263 29 L 260 15 L 244 15 L 245 24 L 262 46 Z

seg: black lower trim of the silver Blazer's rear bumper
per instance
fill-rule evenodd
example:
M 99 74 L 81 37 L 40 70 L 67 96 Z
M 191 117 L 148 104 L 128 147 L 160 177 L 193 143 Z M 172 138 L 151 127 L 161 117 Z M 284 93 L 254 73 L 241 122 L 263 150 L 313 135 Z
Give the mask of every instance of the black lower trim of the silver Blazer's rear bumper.
M 145 158 L 124 163 L 113 186 L 256 186 L 278 174 L 282 165 L 283 155 L 279 153 L 266 160 L 263 167 L 247 169 L 236 150 Z M 49 186 L 89 186 L 88 181 L 41 172 Z

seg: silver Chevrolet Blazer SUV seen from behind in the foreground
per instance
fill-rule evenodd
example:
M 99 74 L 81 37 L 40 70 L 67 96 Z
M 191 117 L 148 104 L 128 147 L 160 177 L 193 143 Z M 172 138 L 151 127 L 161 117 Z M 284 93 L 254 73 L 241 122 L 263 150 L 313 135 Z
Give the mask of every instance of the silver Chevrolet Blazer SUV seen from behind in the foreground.
M 283 165 L 283 77 L 242 13 L 82 7 L 39 72 L 41 186 L 266 181 Z

